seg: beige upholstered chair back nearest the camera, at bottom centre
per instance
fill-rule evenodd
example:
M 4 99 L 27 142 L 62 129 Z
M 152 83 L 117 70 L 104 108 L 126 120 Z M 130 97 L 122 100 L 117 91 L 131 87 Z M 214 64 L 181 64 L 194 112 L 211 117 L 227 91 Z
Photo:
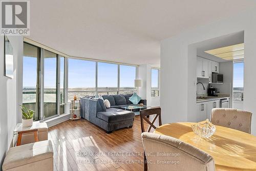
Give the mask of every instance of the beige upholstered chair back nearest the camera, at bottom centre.
M 186 142 L 154 133 L 142 133 L 141 138 L 150 171 L 215 170 L 214 159 L 209 154 Z

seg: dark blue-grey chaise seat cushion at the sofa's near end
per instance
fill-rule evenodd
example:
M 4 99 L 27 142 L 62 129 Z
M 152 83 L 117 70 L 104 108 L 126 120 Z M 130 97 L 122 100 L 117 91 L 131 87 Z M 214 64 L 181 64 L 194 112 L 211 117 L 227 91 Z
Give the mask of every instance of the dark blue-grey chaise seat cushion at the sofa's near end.
M 115 108 L 106 109 L 106 112 L 98 112 L 97 118 L 113 123 L 133 119 L 135 114 L 131 111 L 124 111 Z

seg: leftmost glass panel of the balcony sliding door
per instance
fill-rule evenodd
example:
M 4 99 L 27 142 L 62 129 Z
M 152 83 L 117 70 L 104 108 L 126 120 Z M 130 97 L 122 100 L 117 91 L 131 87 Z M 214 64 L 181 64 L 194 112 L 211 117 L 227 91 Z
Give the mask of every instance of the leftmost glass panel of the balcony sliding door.
M 34 120 L 40 119 L 39 58 L 40 49 L 24 43 L 23 55 L 23 105 L 35 111 Z

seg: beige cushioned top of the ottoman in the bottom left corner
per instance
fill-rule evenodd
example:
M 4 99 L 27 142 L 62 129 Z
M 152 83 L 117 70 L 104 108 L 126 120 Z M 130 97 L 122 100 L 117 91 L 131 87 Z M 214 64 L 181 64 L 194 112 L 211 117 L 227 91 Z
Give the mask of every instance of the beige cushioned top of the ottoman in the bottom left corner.
M 15 146 L 10 148 L 7 153 L 3 163 L 3 170 L 12 169 L 48 158 L 53 158 L 51 140 Z

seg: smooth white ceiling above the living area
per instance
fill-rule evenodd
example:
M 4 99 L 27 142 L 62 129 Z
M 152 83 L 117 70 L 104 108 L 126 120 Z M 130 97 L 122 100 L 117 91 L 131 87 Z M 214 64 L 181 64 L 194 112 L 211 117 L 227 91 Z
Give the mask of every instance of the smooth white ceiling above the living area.
M 250 0 L 31 0 L 28 38 L 72 56 L 160 66 L 160 40 L 256 6 Z

